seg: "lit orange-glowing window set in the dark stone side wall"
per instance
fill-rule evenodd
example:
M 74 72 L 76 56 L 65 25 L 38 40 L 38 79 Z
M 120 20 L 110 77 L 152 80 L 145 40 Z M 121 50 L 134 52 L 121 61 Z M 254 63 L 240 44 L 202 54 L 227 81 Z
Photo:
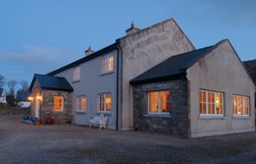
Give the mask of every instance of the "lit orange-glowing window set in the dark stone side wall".
M 148 113 L 169 114 L 170 92 L 168 90 L 148 92 Z

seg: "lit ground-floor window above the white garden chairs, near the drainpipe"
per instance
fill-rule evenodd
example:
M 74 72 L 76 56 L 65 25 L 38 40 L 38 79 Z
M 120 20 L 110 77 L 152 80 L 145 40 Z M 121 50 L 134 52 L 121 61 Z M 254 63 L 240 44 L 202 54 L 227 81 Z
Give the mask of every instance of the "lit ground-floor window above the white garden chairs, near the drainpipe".
M 99 110 L 101 112 L 112 111 L 112 94 L 111 93 L 99 94 Z

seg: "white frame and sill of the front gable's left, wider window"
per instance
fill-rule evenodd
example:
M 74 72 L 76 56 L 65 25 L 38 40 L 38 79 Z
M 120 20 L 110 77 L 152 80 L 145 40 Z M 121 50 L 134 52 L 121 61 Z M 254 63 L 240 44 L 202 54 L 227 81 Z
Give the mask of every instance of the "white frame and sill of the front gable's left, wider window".
M 207 113 L 206 114 L 203 114 L 203 113 L 200 113 L 200 98 L 199 98 L 199 115 L 200 117 L 224 117 L 224 94 L 222 92 L 218 92 L 218 91 L 210 91 L 210 90 L 205 90 L 205 89 L 199 89 L 199 97 L 200 97 L 200 91 L 202 92 L 206 92 L 206 102 L 205 102 L 205 105 L 206 105 L 206 111 Z M 214 93 L 214 101 L 213 103 L 210 103 L 211 105 L 214 104 L 214 114 L 208 114 L 208 93 Z M 222 114 L 216 114 L 217 113 L 217 110 L 216 110 L 216 94 L 221 94 L 221 108 L 222 108 Z

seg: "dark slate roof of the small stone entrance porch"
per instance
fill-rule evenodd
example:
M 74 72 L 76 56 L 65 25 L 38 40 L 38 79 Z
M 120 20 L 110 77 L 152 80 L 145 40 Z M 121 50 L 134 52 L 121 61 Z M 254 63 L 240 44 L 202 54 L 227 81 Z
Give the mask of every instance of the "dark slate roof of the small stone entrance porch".
M 69 85 L 69 82 L 66 80 L 65 77 L 53 77 L 53 76 L 38 75 L 38 74 L 34 75 L 31 85 L 29 87 L 29 91 L 32 90 L 32 87 L 36 79 L 40 87 L 43 89 L 73 91 L 73 87 Z

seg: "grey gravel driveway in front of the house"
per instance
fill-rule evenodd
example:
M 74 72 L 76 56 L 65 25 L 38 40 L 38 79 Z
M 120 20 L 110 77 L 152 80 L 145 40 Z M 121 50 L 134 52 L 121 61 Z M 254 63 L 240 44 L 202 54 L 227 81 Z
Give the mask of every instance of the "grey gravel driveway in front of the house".
M 1 163 L 254 163 L 256 132 L 177 138 L 77 125 L 32 126 L 0 117 Z

